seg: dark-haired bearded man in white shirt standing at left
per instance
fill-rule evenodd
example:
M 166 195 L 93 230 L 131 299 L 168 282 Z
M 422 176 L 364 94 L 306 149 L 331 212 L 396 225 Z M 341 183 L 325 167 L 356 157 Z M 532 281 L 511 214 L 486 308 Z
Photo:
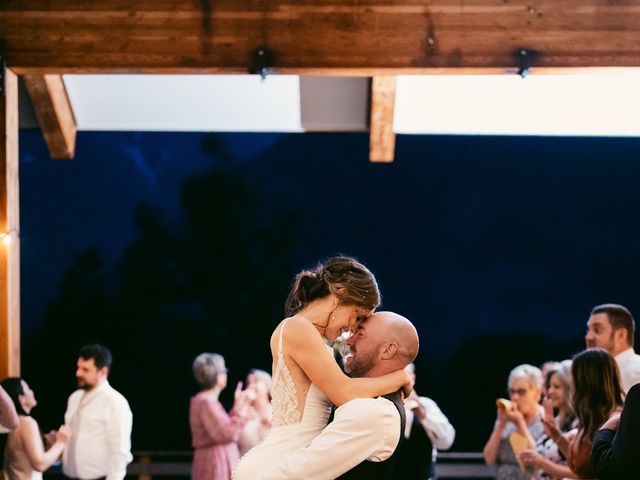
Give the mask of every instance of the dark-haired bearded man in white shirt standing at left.
M 122 480 L 133 459 L 133 415 L 126 398 L 109 385 L 111 361 L 103 345 L 86 345 L 78 354 L 78 390 L 69 397 L 64 415 L 71 429 L 62 455 L 67 477 Z

